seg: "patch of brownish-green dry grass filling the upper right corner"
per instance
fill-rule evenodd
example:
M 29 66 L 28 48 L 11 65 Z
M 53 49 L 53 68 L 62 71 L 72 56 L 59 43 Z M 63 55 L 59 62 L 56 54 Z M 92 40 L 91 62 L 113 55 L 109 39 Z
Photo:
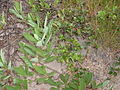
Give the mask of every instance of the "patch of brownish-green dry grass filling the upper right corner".
M 120 1 L 119 0 L 86 0 L 94 28 L 95 39 L 104 48 L 120 48 Z M 103 11 L 104 15 L 99 15 Z

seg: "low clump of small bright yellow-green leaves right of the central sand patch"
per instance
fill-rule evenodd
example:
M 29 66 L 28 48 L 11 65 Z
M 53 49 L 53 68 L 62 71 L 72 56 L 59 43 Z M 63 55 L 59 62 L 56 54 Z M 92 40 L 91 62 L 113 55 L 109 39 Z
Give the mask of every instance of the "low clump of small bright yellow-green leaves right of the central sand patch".
M 77 40 L 71 38 L 66 39 L 66 42 L 61 42 L 57 48 L 58 53 L 58 61 L 62 63 L 66 63 L 69 70 L 74 70 L 75 63 L 82 62 L 83 57 L 81 55 L 81 45 L 78 43 Z

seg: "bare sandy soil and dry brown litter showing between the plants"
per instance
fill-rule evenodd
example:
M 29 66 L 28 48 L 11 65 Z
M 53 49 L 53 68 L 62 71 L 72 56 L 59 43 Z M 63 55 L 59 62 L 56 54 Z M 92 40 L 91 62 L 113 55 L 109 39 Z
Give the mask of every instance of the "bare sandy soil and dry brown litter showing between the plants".
M 12 7 L 11 5 L 11 3 L 7 3 L 7 0 L 3 3 L 0 2 L 0 12 L 4 10 L 7 14 L 7 26 L 5 26 L 4 30 L 0 30 L 0 49 L 5 51 L 7 60 L 12 60 L 15 64 L 19 64 L 18 43 L 24 41 L 22 33 L 27 26 L 23 23 L 16 22 L 14 16 L 8 13 L 7 9 Z M 81 45 L 84 45 L 85 39 L 79 37 L 79 42 Z M 120 56 L 119 52 L 114 53 L 109 50 L 104 50 L 103 48 L 94 49 L 90 46 L 82 50 L 81 53 L 85 56 L 85 60 L 81 66 L 93 72 L 94 79 L 97 80 L 97 82 L 102 82 L 110 77 L 108 74 L 109 67 L 114 62 L 114 59 Z M 65 65 L 56 61 L 46 65 L 59 73 L 63 72 L 66 68 Z M 57 76 L 55 78 L 57 78 Z M 111 78 L 110 84 L 99 90 L 109 90 L 111 85 L 113 86 L 113 90 L 120 90 L 120 74 Z M 29 85 L 29 90 L 49 90 L 49 87 L 49 85 L 45 84 L 37 85 L 36 83 L 32 83 Z

